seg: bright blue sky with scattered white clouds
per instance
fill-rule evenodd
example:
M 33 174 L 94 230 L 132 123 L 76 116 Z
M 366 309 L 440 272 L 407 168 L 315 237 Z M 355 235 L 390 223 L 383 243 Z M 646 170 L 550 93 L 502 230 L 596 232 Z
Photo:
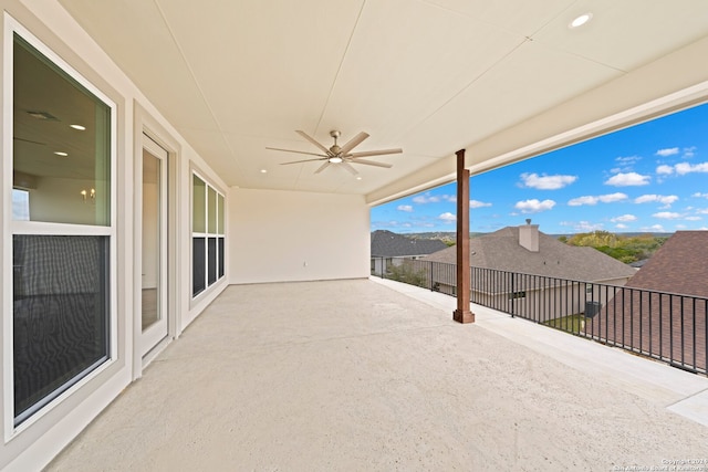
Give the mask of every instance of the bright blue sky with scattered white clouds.
M 455 231 L 457 185 L 372 209 L 372 231 Z M 708 104 L 472 176 L 470 231 L 708 230 Z

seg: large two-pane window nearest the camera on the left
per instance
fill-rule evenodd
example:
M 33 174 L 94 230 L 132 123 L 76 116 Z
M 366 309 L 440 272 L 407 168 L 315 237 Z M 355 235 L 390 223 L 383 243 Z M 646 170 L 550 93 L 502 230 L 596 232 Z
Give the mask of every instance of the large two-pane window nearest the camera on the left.
M 35 40 L 12 55 L 17 426 L 111 357 L 115 106 Z

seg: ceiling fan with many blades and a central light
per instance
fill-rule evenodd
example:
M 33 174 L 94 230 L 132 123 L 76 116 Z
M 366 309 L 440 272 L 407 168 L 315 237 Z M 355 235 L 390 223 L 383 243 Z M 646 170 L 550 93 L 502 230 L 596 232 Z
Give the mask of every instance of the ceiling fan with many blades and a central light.
M 344 167 L 348 172 L 351 172 L 354 176 L 356 176 L 358 172 L 352 166 L 352 164 L 364 164 L 366 166 L 376 166 L 376 167 L 391 168 L 391 167 L 393 167 L 391 164 L 375 162 L 373 160 L 364 160 L 364 159 L 362 159 L 362 157 L 383 156 L 383 155 L 386 155 L 386 154 L 400 154 L 400 153 L 403 153 L 403 149 L 400 149 L 400 148 L 397 148 L 397 149 L 381 149 L 381 150 L 365 150 L 365 151 L 362 151 L 362 153 L 352 153 L 352 149 L 354 149 L 364 139 L 366 139 L 368 137 L 368 134 L 366 134 L 364 132 L 362 132 L 358 135 L 354 136 L 348 143 L 346 143 L 344 146 L 340 147 L 336 144 L 336 139 L 342 134 L 340 132 L 335 130 L 335 129 L 331 130 L 330 132 L 330 136 L 332 136 L 334 138 L 334 144 L 329 149 L 326 147 L 324 147 L 323 145 L 321 145 L 320 143 L 317 143 L 314 138 L 312 138 L 305 132 L 296 130 L 295 133 L 298 133 L 300 136 L 302 136 L 303 138 L 308 139 L 310 143 L 315 145 L 323 154 L 305 153 L 305 151 L 302 151 L 302 150 L 293 150 L 293 149 L 280 149 L 280 148 L 277 148 L 277 147 L 266 147 L 266 149 L 283 150 L 285 153 L 295 153 L 295 154 L 306 154 L 306 155 L 310 155 L 310 156 L 319 156 L 316 159 L 293 160 L 291 162 L 281 164 L 281 166 L 287 166 L 289 164 L 312 162 L 312 161 L 316 161 L 316 160 L 324 161 L 322 164 L 322 166 L 320 166 L 320 168 L 317 168 L 317 170 L 314 171 L 315 174 L 320 174 L 321 171 L 326 169 L 332 164 L 341 165 L 342 167 Z

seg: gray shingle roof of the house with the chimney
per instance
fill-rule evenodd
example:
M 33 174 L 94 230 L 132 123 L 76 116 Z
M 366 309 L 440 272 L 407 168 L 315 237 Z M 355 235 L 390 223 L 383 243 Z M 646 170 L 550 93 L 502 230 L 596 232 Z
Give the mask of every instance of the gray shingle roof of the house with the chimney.
M 456 263 L 456 248 L 424 258 L 425 261 Z M 636 271 L 593 248 L 577 248 L 539 231 L 539 252 L 519 244 L 519 228 L 507 227 L 470 239 L 470 265 L 482 269 L 544 275 L 587 282 L 631 277 Z

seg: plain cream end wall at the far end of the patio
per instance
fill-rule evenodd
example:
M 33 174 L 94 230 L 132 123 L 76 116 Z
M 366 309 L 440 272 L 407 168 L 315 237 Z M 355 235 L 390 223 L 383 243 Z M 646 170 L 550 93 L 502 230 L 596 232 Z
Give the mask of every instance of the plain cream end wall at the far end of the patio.
M 232 188 L 228 197 L 230 283 L 368 277 L 362 196 Z

